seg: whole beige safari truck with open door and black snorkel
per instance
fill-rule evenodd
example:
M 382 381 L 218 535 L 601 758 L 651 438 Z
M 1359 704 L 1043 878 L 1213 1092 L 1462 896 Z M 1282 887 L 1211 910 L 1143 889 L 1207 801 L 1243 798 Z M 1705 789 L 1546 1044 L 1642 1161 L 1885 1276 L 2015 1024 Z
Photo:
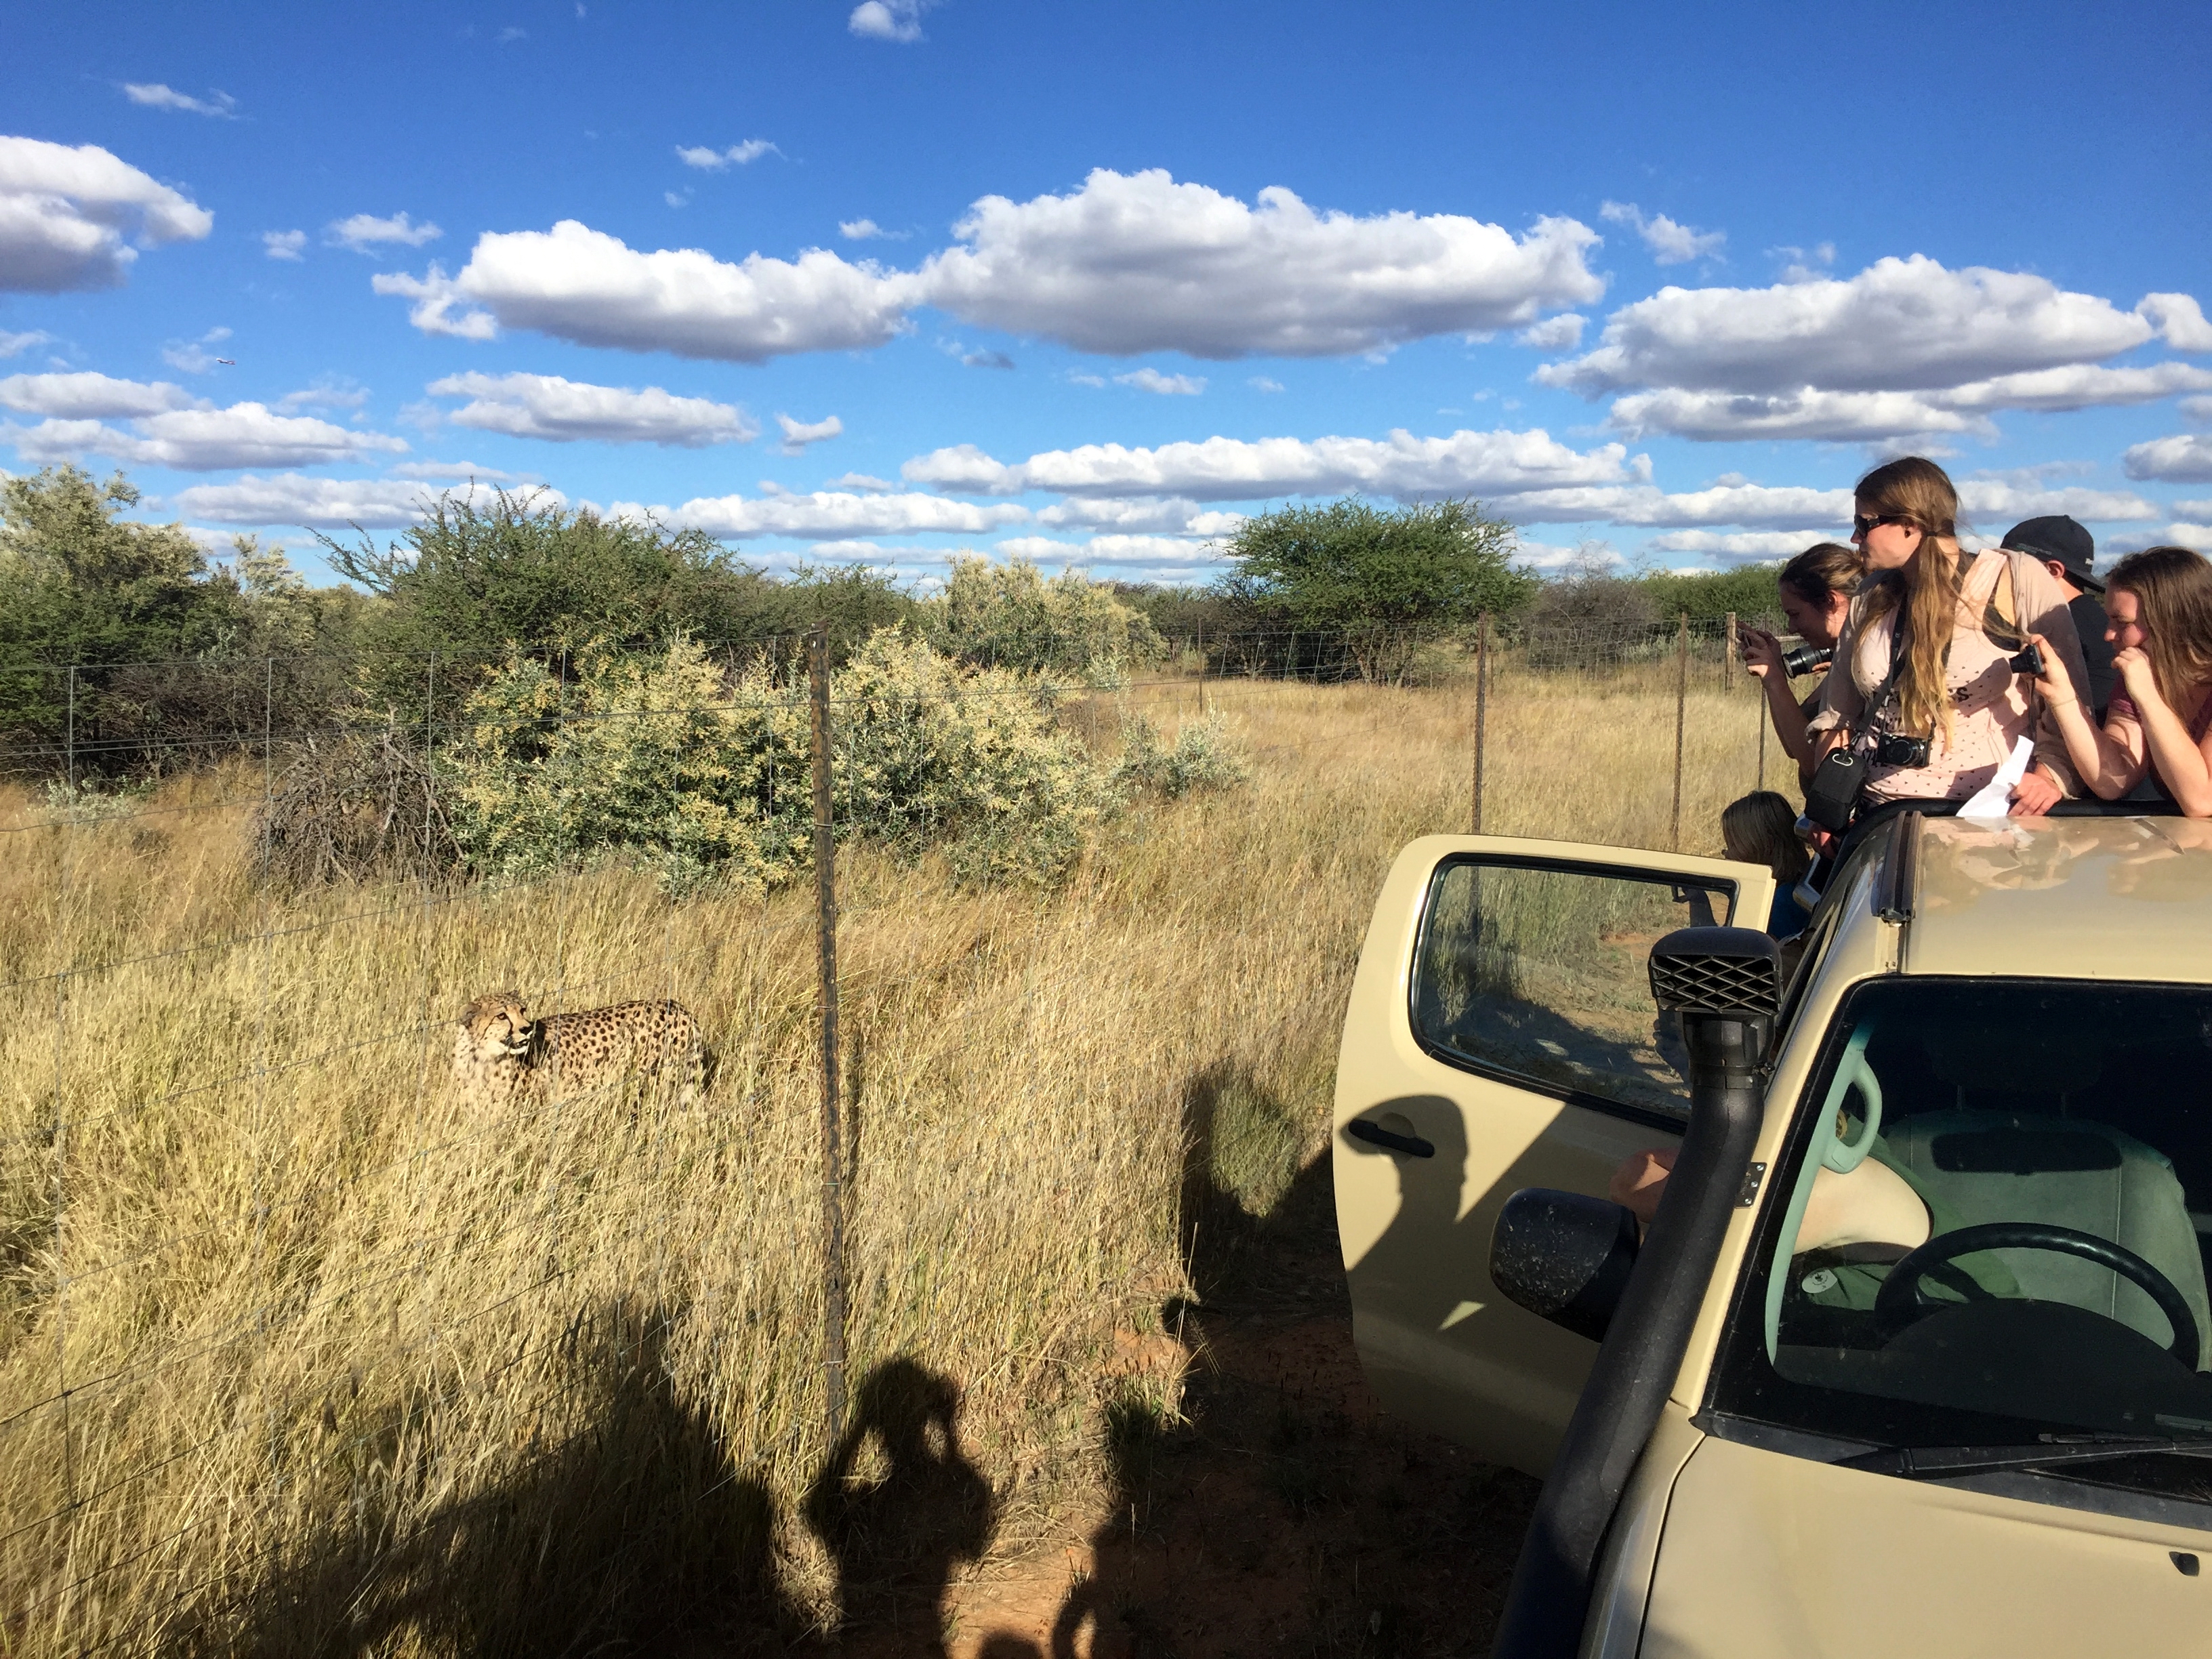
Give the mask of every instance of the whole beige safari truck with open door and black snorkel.
M 1498 1652 L 2212 1652 L 2212 825 L 1902 812 L 1772 900 L 1433 836 L 1376 905 L 1354 1327 L 1544 1478 Z

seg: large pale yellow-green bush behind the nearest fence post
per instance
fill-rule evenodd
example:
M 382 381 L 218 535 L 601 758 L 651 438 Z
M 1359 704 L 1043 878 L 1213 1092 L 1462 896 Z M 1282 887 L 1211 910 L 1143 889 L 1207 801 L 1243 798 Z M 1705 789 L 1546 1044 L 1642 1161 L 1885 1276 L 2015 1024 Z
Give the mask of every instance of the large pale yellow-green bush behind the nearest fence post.
M 975 883 L 1048 883 L 1119 799 L 1055 721 L 1051 681 L 883 628 L 836 670 L 832 699 L 845 838 L 940 847 Z M 469 695 L 440 754 L 462 863 L 531 878 L 630 858 L 672 894 L 763 891 L 812 856 L 810 730 L 803 681 L 765 661 L 726 675 L 697 641 L 591 644 L 566 681 L 515 655 Z

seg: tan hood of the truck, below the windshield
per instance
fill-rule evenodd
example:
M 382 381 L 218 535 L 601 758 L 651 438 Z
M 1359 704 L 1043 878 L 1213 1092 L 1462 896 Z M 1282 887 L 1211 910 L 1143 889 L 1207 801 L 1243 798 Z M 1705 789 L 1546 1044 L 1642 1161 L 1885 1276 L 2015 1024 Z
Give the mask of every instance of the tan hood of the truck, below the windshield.
M 1674 1478 L 1644 1659 L 2126 1659 L 2212 1650 L 2205 1535 L 1703 1440 Z

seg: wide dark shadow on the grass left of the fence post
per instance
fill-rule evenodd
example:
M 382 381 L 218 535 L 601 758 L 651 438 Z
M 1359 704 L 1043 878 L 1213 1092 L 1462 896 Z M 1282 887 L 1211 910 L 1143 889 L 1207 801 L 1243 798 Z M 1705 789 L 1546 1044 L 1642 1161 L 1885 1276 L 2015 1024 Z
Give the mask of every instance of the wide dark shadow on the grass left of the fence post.
M 217 1615 L 221 1628 L 177 1648 L 553 1655 L 666 1650 L 708 1632 L 785 1646 L 803 1619 L 774 1584 L 774 1504 L 679 1398 L 666 1356 L 677 1323 L 624 1298 L 580 1316 L 562 1340 L 562 1429 L 518 1471 L 422 1517 L 407 1495 L 438 1478 L 467 1486 L 467 1473 L 434 1440 L 409 1451 L 427 1442 L 420 1405 L 365 1425 L 354 1467 L 387 1471 L 380 1489 L 356 1484 L 365 1509 L 336 1504 L 341 1517 Z

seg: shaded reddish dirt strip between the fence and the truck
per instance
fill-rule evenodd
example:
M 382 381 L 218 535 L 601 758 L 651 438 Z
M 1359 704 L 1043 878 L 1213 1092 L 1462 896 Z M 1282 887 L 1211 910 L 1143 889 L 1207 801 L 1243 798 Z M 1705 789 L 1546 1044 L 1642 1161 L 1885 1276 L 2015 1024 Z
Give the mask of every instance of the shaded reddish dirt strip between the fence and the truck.
M 1203 1307 L 1170 1307 L 1170 1334 L 1128 1356 L 1186 1367 L 1186 1420 L 1124 1413 L 1093 1528 L 958 1582 L 978 1495 L 958 1451 L 938 1458 L 907 1506 L 936 1535 L 909 1522 L 852 1557 L 845 1655 L 1486 1652 L 1535 1482 L 1376 1409 L 1325 1159 L 1265 1223 L 1214 1221 Z

